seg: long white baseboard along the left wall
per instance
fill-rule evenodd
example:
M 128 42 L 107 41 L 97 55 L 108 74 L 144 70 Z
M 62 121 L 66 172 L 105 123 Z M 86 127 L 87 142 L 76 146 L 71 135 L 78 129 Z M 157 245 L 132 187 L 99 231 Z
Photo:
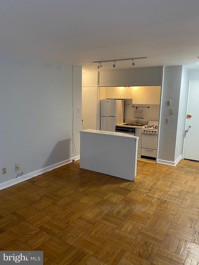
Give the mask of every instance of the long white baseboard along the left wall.
M 80 156 L 76 156 L 74 159 L 75 159 L 75 161 L 76 160 L 79 160 L 80 159 Z M 58 168 L 58 167 L 62 167 L 64 165 L 67 165 L 67 164 L 69 164 L 71 162 L 72 162 L 72 158 L 67 159 L 65 161 L 62 161 L 62 162 L 59 162 L 59 163 L 56 163 L 56 164 L 51 165 L 49 167 L 44 167 L 44 168 L 39 169 L 37 171 L 28 173 L 28 174 L 26 174 L 26 176 L 28 176 L 29 178 L 34 178 L 34 177 L 39 176 L 39 175 L 41 175 L 41 174 L 43 174 L 45 172 L 51 171 L 51 170 L 53 170 L 55 168 Z M 25 175 L 24 176 L 21 176 L 21 177 L 19 176 L 16 179 L 9 180 L 9 181 L 6 181 L 4 183 L 1 183 L 0 184 L 0 190 L 3 190 L 3 189 L 8 188 L 8 187 L 10 187 L 12 185 L 18 184 L 18 183 L 20 183 L 22 181 L 25 181 L 25 180 L 29 179 L 26 176 Z

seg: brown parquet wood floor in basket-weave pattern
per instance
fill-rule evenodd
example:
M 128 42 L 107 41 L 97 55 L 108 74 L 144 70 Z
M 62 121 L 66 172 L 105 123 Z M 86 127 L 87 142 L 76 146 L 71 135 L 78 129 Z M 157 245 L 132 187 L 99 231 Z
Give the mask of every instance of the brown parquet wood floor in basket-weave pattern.
M 199 265 L 199 162 L 137 162 L 136 181 L 79 161 L 0 191 L 0 250 L 44 265 Z

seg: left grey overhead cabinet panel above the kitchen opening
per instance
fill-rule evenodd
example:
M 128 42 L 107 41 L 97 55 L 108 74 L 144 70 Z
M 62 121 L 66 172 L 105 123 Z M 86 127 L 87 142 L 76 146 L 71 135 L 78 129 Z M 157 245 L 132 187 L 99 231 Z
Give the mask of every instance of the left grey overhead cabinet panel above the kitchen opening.
M 98 72 L 99 86 L 127 86 L 127 69 Z

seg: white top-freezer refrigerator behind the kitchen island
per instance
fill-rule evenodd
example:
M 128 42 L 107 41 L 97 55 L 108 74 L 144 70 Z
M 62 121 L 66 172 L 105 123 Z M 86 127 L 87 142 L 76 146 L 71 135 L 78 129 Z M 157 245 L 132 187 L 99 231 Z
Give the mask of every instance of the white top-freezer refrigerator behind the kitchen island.
M 100 100 L 100 130 L 115 132 L 115 126 L 124 122 L 123 99 Z

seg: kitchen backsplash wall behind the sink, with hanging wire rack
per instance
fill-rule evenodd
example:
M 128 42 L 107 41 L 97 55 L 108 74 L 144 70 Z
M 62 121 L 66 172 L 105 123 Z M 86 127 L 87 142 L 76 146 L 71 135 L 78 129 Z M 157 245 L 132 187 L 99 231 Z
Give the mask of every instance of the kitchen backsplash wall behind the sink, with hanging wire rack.
M 129 106 L 127 105 L 129 104 Z M 134 118 L 134 110 L 135 107 L 132 107 L 132 99 L 125 99 L 124 100 L 124 119 L 125 120 L 135 120 Z M 143 119 L 144 121 L 158 121 L 159 120 L 159 111 L 160 111 L 160 105 L 147 105 L 147 104 L 136 104 L 141 110 L 141 107 L 143 108 Z M 147 108 L 149 106 L 149 108 Z M 137 120 L 137 119 L 136 119 Z M 139 119 L 138 119 L 139 120 Z

